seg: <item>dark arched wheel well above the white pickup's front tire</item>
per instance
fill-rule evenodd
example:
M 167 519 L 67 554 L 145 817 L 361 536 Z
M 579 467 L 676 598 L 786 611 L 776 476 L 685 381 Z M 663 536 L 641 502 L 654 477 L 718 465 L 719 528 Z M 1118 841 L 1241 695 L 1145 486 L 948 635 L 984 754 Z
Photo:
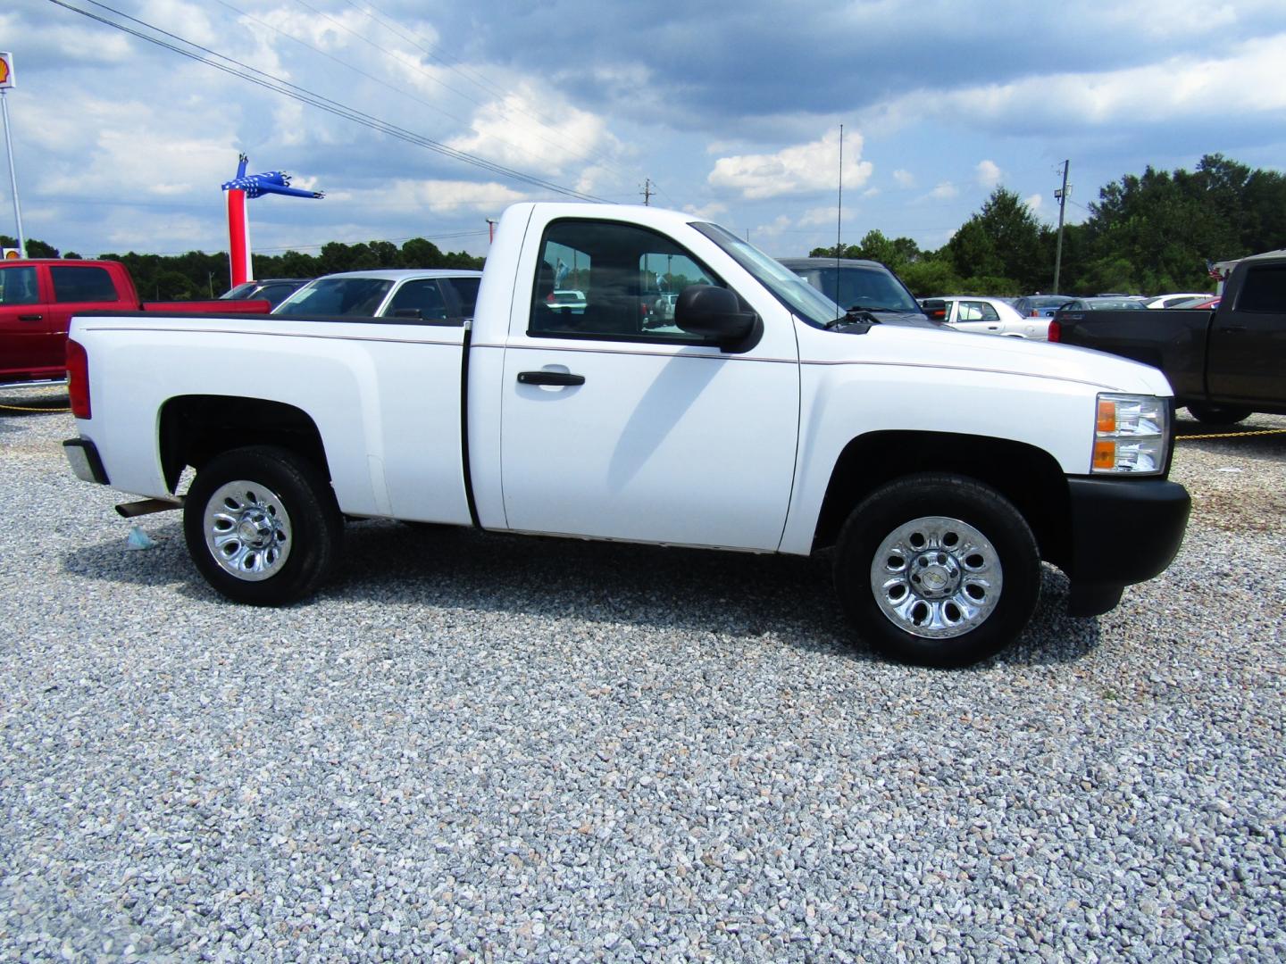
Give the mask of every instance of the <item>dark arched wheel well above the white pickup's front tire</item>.
M 954 472 L 992 486 L 1022 513 L 1043 559 L 1066 558 L 1067 481 L 1053 456 L 1024 442 L 946 432 L 872 432 L 849 442 L 831 473 L 814 550 L 835 545 L 858 503 L 914 472 Z

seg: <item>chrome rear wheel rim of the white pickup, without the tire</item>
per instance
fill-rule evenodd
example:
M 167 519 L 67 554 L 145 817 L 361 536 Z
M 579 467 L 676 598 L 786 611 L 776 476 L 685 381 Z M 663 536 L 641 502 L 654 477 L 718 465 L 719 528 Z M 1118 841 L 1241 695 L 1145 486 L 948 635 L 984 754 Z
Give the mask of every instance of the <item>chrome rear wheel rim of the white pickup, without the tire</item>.
M 220 568 L 258 582 L 282 571 L 291 555 L 291 514 L 280 497 L 258 482 L 220 486 L 206 503 L 206 546 Z

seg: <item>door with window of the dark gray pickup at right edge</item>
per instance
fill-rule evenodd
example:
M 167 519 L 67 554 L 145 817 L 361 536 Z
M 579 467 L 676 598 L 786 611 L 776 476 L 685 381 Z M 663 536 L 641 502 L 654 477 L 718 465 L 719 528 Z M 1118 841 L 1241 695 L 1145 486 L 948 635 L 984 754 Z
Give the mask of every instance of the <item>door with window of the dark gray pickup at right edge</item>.
M 1206 373 L 1213 398 L 1281 405 L 1286 397 L 1286 265 L 1250 262 L 1235 303 L 1215 311 Z

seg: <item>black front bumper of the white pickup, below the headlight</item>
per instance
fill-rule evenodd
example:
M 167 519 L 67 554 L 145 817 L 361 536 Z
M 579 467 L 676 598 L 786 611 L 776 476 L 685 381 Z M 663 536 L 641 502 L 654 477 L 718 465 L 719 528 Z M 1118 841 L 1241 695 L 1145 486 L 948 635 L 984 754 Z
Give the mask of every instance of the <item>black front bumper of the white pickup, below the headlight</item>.
M 1073 589 L 1128 586 L 1160 575 L 1183 542 L 1192 500 L 1178 482 L 1070 478 Z M 1093 593 L 1088 593 L 1093 595 Z

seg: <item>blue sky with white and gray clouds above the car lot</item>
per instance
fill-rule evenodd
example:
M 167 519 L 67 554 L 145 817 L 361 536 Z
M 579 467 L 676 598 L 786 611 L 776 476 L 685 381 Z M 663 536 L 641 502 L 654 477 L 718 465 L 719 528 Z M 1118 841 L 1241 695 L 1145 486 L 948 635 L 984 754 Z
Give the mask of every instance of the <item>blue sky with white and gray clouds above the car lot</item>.
M 778 257 L 937 248 L 998 185 L 1056 224 L 1064 161 L 1070 222 L 1286 165 L 1282 0 L 17 0 L 0 49 L 24 234 L 86 257 L 225 251 L 239 152 L 325 192 L 248 201 L 261 253 L 485 254 L 511 203 L 644 190 Z

